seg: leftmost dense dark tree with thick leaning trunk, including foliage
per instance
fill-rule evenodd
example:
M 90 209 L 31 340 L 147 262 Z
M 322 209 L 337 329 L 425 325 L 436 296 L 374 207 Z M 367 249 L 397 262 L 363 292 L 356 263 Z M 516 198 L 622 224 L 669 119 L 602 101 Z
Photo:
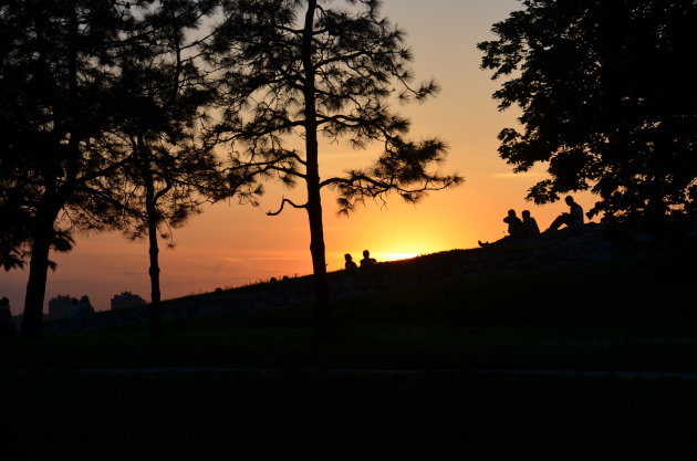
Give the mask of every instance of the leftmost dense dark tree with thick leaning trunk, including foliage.
M 117 224 L 98 179 L 124 153 L 104 137 L 111 65 L 127 9 L 97 0 L 9 0 L 0 6 L 0 207 L 8 265 L 31 255 L 23 335 L 41 331 L 50 250 L 71 232 Z M 8 214 L 4 214 L 4 212 Z

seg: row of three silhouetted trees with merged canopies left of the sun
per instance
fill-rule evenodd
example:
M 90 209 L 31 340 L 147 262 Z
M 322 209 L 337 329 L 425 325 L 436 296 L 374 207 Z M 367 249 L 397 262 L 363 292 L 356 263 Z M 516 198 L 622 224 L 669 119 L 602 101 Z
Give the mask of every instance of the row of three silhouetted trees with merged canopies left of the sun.
M 345 3 L 345 4 L 342 4 Z M 29 262 L 22 334 L 41 332 L 52 251 L 117 229 L 149 241 L 158 335 L 158 237 L 205 201 L 254 202 L 261 182 L 302 184 L 318 334 L 330 336 L 321 190 L 343 212 L 460 182 L 445 143 L 405 137 L 393 97 L 424 99 L 404 32 L 379 1 L 9 0 L 0 4 L 0 258 Z M 288 148 L 301 136 L 304 151 Z M 381 142 L 363 170 L 322 178 L 318 137 Z

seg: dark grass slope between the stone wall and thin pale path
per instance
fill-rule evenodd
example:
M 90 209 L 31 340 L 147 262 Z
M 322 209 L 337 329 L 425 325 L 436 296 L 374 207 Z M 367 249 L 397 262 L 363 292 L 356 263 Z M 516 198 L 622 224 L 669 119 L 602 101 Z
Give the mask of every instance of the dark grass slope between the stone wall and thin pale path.
M 689 277 L 636 261 L 413 286 L 334 304 L 318 342 L 310 306 L 12 340 L 4 368 L 586 368 L 697 371 Z

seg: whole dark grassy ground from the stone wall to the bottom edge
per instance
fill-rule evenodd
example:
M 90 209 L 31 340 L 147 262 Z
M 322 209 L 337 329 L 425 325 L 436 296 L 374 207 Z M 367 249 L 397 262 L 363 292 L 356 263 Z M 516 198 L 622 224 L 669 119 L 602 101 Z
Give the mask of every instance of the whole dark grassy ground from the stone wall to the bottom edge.
M 142 326 L 15 339 L 0 348 L 0 457 L 694 460 L 697 302 L 675 269 L 345 301 L 332 342 L 306 307 L 170 323 L 156 342 Z

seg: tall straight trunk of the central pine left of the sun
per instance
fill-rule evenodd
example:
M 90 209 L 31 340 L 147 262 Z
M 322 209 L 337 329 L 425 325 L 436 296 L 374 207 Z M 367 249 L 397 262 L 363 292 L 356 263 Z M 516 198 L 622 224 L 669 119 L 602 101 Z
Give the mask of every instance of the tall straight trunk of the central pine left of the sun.
M 315 300 L 315 334 L 320 338 L 333 336 L 331 322 L 329 281 L 324 248 L 324 226 L 322 223 L 322 197 L 320 193 L 320 165 L 318 148 L 318 116 L 315 107 L 314 67 L 312 62 L 312 32 L 316 0 L 308 1 L 305 13 L 302 61 L 304 67 L 304 116 L 305 116 L 305 155 L 308 186 L 308 220 L 310 221 L 310 253 Z

